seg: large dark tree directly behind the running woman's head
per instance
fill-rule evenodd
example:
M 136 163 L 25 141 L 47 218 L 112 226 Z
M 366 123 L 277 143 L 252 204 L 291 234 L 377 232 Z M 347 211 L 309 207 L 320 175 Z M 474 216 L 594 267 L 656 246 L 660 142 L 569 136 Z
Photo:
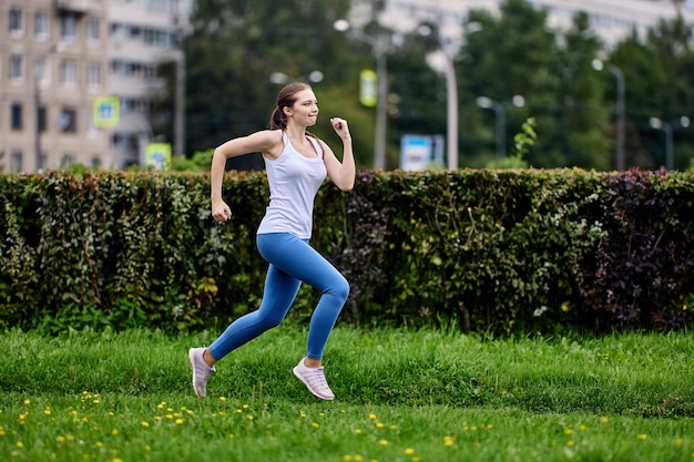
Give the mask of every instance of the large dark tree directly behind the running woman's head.
M 333 23 L 348 10 L 349 0 L 197 0 L 185 40 L 188 154 L 266 129 L 280 86 L 271 81 L 273 74 L 307 81 L 319 71 L 330 88 L 347 88 L 347 79 L 358 73 L 350 71 L 353 57 L 339 52 L 347 38 Z M 316 93 L 335 95 L 323 82 L 314 84 Z M 358 107 L 349 96 L 328 105 Z M 164 123 L 171 101 L 167 92 L 160 105 Z M 341 113 L 324 112 L 314 132 L 328 136 L 327 117 Z M 355 143 L 356 152 L 366 151 Z

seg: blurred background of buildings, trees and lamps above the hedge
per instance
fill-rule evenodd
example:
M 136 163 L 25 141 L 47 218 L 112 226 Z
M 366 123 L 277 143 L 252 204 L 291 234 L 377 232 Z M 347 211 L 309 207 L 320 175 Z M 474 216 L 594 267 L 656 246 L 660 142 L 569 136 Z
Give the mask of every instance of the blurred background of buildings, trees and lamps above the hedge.
M 693 24 L 691 0 L 1 0 L 0 171 L 206 170 L 293 81 L 364 168 L 690 170 Z

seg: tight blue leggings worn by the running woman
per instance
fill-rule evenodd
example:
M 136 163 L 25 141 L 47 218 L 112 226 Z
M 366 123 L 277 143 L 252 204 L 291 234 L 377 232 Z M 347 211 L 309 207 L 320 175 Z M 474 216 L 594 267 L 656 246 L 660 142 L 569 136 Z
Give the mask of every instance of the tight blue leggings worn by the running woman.
M 298 294 L 302 281 L 320 290 L 308 329 L 309 358 L 322 359 L 337 316 L 349 295 L 347 279 L 318 251 L 289 233 L 258 234 L 258 250 L 269 263 L 261 307 L 232 322 L 210 346 L 220 360 L 268 329 L 279 326 Z

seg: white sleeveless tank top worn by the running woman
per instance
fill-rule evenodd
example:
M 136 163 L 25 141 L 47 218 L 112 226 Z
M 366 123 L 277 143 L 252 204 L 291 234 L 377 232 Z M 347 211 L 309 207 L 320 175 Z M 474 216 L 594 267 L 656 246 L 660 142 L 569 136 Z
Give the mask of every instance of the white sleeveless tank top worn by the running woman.
M 312 136 L 306 138 L 313 143 L 317 157 L 299 154 L 284 132 L 284 150 L 279 157 L 274 161 L 264 157 L 269 183 L 269 205 L 258 234 L 290 233 L 300 239 L 310 238 L 314 199 L 327 171 L 320 144 Z

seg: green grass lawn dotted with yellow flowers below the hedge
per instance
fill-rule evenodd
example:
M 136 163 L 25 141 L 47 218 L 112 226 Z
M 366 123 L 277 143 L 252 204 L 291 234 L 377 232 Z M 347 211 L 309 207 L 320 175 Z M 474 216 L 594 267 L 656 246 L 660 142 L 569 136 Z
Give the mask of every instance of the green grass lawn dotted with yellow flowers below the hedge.
M 694 336 L 511 339 L 336 329 L 334 402 L 290 372 L 306 332 L 0 333 L 0 461 L 692 461 Z

